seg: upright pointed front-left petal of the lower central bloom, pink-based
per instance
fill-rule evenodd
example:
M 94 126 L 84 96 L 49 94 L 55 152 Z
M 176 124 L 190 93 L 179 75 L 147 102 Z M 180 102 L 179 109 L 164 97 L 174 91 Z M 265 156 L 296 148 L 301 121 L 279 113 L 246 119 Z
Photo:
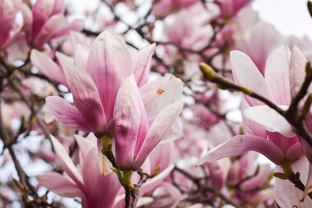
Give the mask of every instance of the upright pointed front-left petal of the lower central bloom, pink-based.
M 121 84 L 114 110 L 116 163 L 121 170 L 130 170 L 148 132 L 148 121 L 135 76 Z

